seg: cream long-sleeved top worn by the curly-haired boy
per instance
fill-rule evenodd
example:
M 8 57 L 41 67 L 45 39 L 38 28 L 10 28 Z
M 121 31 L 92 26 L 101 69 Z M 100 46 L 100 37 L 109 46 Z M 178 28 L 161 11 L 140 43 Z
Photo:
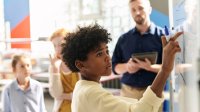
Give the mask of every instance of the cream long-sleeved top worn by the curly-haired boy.
M 113 96 L 94 81 L 79 80 L 72 97 L 72 112 L 157 112 L 164 98 L 147 88 L 138 101 Z

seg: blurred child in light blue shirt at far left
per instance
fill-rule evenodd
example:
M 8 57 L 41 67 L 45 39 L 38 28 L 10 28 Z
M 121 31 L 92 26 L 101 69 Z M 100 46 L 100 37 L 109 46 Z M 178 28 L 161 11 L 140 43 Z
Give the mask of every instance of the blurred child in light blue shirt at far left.
M 2 93 L 3 112 L 46 112 L 41 84 L 30 78 L 31 59 L 15 55 L 12 69 L 16 79 Z

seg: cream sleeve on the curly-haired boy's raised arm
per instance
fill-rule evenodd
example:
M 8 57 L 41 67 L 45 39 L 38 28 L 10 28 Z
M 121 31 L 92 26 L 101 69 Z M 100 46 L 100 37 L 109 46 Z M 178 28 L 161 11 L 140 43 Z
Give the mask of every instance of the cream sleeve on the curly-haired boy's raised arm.
M 93 110 L 96 112 L 110 112 L 111 110 L 112 112 L 157 112 L 163 102 L 163 98 L 158 98 L 150 88 L 139 101 L 132 98 L 124 100 L 113 96 L 106 90 L 91 90 L 86 97 L 88 105 L 90 108 L 95 107 Z

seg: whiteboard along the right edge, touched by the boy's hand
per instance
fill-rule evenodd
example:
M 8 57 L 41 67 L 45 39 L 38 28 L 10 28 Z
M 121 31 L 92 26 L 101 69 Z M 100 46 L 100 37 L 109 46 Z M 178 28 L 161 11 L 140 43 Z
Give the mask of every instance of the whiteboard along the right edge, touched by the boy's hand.
M 199 0 L 169 0 L 170 26 L 184 31 L 179 38 L 181 53 L 172 74 L 173 112 L 199 112 L 197 58 L 200 51 Z

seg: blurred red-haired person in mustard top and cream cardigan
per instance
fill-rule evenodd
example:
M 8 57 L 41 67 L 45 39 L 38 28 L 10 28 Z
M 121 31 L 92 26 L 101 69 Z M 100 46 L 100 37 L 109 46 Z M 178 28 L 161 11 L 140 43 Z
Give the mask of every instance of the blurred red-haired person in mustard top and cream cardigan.
M 55 99 L 53 112 L 71 112 L 72 92 L 79 80 L 79 74 L 71 72 L 61 59 L 61 44 L 67 34 L 65 29 L 58 29 L 50 37 L 55 48 L 55 55 L 50 55 L 49 67 L 49 92 Z

